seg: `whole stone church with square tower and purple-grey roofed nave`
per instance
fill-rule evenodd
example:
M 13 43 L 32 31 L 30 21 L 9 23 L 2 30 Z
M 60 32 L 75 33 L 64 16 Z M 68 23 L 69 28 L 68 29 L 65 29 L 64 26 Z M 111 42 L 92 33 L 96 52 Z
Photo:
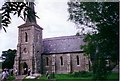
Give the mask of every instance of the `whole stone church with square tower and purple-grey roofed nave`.
M 31 8 L 34 8 L 31 5 Z M 89 59 L 80 48 L 84 35 L 42 38 L 36 21 L 18 26 L 18 45 L 14 68 L 19 74 L 30 68 L 33 73 L 70 73 L 88 71 Z

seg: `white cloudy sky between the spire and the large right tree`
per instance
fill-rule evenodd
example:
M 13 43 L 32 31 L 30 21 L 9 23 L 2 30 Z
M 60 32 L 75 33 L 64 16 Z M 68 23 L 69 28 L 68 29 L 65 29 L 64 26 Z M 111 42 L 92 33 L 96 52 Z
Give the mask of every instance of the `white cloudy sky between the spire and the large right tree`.
M 40 17 L 38 24 L 43 27 L 43 37 L 73 35 L 76 33 L 74 24 L 68 20 L 68 0 L 41 0 L 36 10 Z

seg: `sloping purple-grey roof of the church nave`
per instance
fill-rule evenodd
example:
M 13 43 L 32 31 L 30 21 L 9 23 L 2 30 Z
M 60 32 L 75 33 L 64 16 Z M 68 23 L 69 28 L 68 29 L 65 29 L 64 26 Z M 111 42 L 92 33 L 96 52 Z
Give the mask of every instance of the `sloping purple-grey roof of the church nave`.
M 63 36 L 43 39 L 44 54 L 80 52 L 84 36 Z

